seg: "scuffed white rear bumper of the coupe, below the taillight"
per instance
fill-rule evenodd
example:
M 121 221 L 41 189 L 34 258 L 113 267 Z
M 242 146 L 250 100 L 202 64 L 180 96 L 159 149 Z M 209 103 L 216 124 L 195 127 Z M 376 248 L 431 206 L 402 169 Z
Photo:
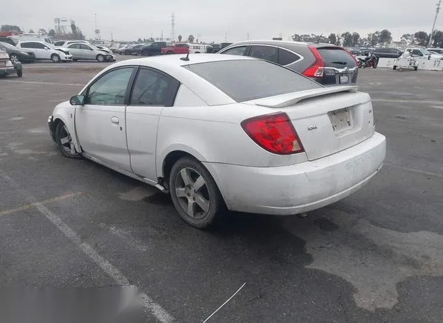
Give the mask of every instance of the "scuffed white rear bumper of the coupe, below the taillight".
M 312 211 L 358 191 L 379 171 L 386 138 L 377 132 L 334 155 L 282 167 L 248 167 L 204 162 L 228 209 L 291 215 Z

